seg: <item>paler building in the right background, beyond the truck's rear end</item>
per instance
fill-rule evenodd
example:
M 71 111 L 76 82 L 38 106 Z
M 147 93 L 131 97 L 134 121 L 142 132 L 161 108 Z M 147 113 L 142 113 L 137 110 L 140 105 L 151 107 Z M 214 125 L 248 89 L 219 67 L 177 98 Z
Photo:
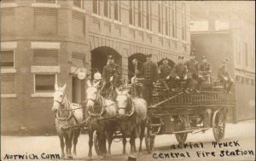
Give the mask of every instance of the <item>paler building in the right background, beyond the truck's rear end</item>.
M 233 122 L 255 118 L 255 2 L 191 3 L 191 48 L 206 55 L 217 75 L 221 60 L 230 60 L 236 81 Z

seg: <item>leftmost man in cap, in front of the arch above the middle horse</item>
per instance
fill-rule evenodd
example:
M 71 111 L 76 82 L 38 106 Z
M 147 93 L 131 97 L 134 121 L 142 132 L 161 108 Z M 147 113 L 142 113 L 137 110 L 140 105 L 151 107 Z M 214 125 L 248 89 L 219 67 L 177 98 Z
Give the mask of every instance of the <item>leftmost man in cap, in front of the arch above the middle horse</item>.
M 113 61 L 113 55 L 108 55 L 107 65 L 103 67 L 102 80 L 106 83 L 105 88 L 108 89 L 111 84 L 113 89 L 119 85 L 119 65 Z

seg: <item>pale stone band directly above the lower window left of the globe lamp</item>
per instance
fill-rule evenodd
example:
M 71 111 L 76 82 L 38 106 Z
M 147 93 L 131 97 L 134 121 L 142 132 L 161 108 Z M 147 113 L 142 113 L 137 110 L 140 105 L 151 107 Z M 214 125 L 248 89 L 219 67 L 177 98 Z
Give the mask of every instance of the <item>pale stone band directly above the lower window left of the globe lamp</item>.
M 61 72 L 60 66 L 31 66 L 32 73 L 56 73 Z

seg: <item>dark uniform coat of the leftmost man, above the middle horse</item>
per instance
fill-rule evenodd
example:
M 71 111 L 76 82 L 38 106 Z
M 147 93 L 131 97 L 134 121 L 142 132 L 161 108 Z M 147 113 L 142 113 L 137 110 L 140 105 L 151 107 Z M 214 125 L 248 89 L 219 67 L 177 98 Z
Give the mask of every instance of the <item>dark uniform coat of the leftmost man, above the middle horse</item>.
M 109 83 L 110 77 L 113 76 L 113 87 L 116 87 L 119 82 L 119 66 L 115 63 L 110 63 L 103 67 L 102 80 Z

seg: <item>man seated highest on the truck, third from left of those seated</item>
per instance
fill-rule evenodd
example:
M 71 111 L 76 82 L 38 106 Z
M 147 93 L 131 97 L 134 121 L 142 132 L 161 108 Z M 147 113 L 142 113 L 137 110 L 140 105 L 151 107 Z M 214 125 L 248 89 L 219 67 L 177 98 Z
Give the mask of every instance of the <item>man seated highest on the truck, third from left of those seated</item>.
M 187 62 L 184 63 L 185 66 L 187 66 L 188 69 L 188 81 L 189 84 L 192 82 L 192 78 L 197 81 L 197 84 L 195 86 L 195 92 L 199 92 L 199 89 L 201 87 L 201 83 L 203 83 L 204 79 L 201 78 L 200 75 L 200 66 L 198 62 L 195 60 L 195 53 L 192 51 L 191 58 Z

